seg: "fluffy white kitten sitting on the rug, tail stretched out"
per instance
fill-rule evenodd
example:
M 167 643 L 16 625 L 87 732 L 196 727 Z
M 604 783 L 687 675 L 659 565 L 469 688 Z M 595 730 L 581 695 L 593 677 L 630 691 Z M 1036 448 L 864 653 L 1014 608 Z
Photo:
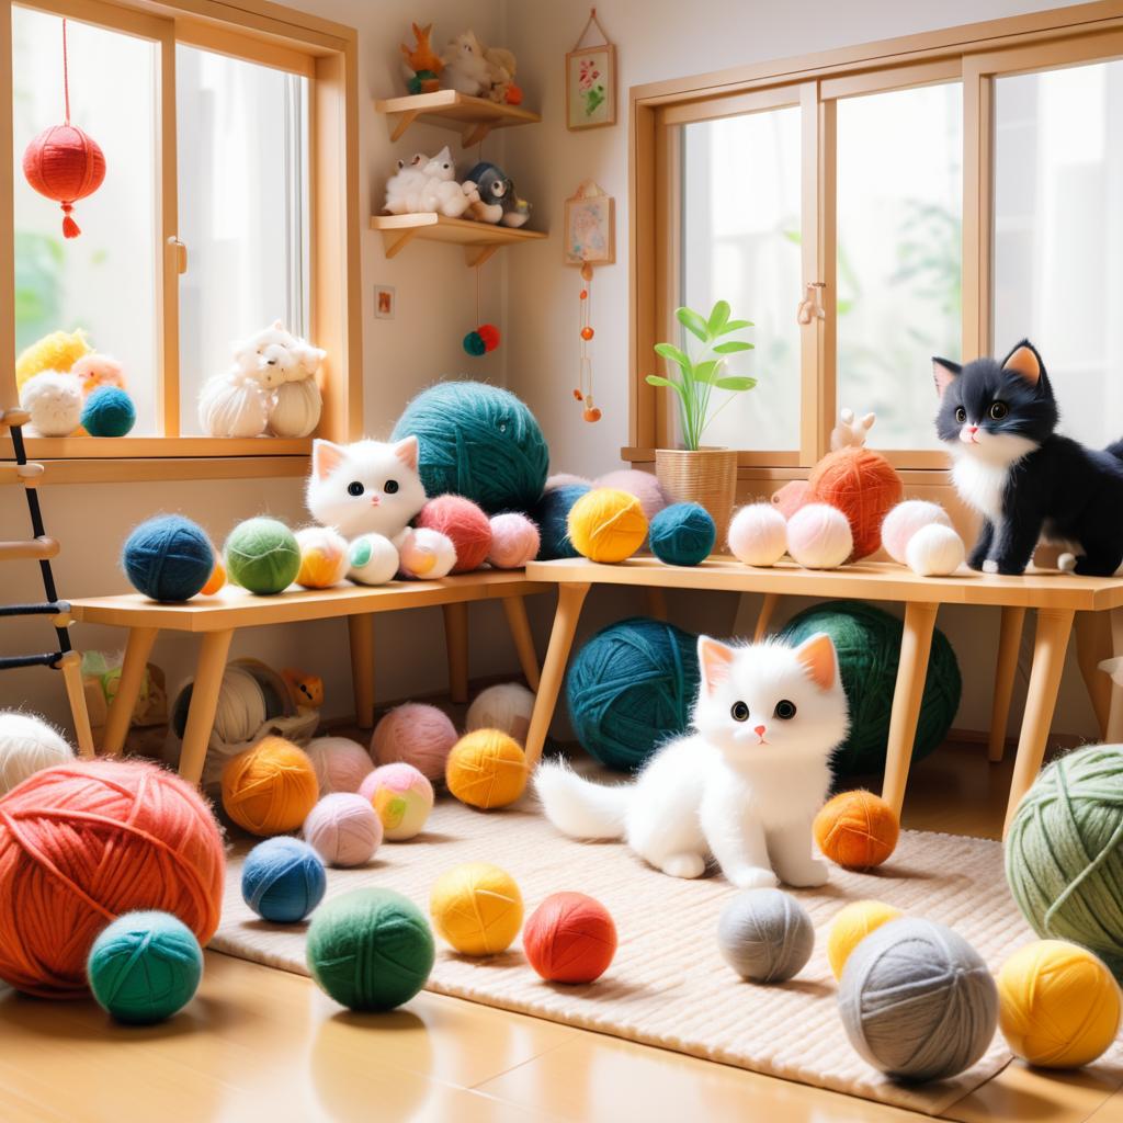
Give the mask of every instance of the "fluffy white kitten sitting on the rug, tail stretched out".
M 546 815 L 574 838 L 622 838 L 672 877 L 699 877 L 713 856 L 742 889 L 822 885 L 811 823 L 847 734 L 834 645 L 812 636 L 727 647 L 699 639 L 695 732 L 665 745 L 634 783 L 592 784 L 542 765 L 535 787 Z

